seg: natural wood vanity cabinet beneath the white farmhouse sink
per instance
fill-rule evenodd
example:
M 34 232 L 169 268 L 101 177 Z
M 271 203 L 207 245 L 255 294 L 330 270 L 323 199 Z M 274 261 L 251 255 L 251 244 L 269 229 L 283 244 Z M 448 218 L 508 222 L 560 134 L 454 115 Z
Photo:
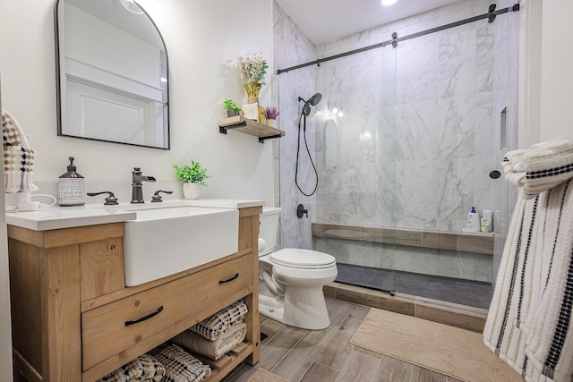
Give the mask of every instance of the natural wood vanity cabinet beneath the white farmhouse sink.
M 198 358 L 211 364 L 210 382 L 259 361 L 261 211 L 239 210 L 236 253 L 133 287 L 124 284 L 123 223 L 8 225 L 14 381 L 96 381 L 241 298 L 245 342 L 218 361 Z

